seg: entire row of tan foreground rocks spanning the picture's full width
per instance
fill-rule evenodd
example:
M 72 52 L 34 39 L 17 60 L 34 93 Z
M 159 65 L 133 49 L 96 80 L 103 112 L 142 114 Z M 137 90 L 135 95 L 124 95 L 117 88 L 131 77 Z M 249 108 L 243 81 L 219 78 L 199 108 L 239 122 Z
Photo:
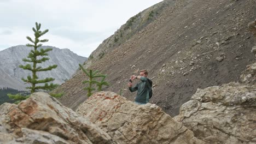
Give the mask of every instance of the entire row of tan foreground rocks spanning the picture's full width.
M 43 92 L 0 110 L 0 143 L 256 143 L 256 86 L 234 82 L 198 89 L 174 118 L 113 92 L 76 112 Z

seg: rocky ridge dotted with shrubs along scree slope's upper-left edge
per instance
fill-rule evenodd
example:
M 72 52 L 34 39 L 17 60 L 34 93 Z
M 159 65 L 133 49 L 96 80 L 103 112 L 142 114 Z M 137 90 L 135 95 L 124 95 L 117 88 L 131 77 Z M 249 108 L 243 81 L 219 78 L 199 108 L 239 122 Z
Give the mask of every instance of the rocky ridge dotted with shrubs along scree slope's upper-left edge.
M 97 47 L 97 49 L 91 53 L 88 62 L 85 63 L 85 67 L 89 67 L 91 63 L 97 61 L 98 59 L 101 59 L 102 57 L 104 57 L 106 53 L 111 52 L 120 44 L 123 44 L 126 40 L 129 40 L 132 37 L 132 35 L 141 31 L 141 29 L 143 29 L 144 27 L 149 25 L 149 23 L 154 21 L 166 7 L 173 6 L 173 0 L 162 1 L 131 17 L 113 35 L 105 39 Z

